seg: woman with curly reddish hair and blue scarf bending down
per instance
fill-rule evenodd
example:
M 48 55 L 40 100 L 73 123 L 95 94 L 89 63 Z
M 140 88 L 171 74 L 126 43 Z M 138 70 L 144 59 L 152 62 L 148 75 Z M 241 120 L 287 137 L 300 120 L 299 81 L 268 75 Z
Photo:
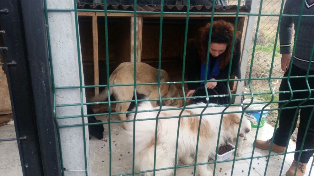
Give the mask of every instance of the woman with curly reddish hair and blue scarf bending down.
M 222 80 L 228 78 L 230 57 L 233 54 L 231 75 L 241 77 L 240 73 L 240 57 L 241 46 L 240 39 L 238 38 L 239 32 L 236 33 L 236 42 L 234 51 L 232 52 L 232 39 L 234 33 L 233 24 L 224 20 L 218 20 L 213 22 L 211 43 L 209 48 L 209 61 L 208 72 L 206 70 L 206 59 L 208 49 L 210 23 L 207 23 L 204 27 L 198 29 L 198 34 L 194 39 L 189 39 L 190 50 L 189 59 L 187 60 L 187 80 L 204 80 L 207 74 L 207 80 Z M 187 97 L 192 96 L 205 96 L 205 88 L 198 89 L 200 85 L 204 83 L 188 83 Z M 209 95 L 216 94 L 228 94 L 226 82 L 207 82 L 206 87 Z M 202 88 L 202 87 L 200 87 Z M 198 90 L 195 92 L 195 90 Z M 187 99 L 188 101 L 190 99 Z M 218 104 L 227 103 L 228 97 L 210 98 L 209 102 Z M 204 102 L 206 98 L 200 98 L 194 100 L 194 103 Z

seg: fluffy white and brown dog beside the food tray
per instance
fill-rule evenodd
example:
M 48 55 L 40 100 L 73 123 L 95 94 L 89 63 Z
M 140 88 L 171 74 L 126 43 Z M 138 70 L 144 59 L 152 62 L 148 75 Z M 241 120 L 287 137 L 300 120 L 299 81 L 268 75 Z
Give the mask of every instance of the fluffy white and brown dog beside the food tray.
M 215 104 L 209 104 L 212 106 Z M 206 106 L 204 103 L 197 105 L 190 105 L 187 107 Z M 170 106 L 163 106 L 159 117 L 179 116 L 181 110 L 166 110 L 173 108 Z M 138 111 L 147 111 L 151 109 L 159 109 L 153 107 L 148 102 L 143 102 L 138 107 Z M 191 154 L 195 154 L 198 126 L 200 114 L 204 108 L 195 108 L 184 110 L 180 121 L 179 141 L 178 141 L 178 159 L 184 164 L 193 164 L 194 158 Z M 208 113 L 221 113 L 225 107 L 207 107 L 204 114 Z M 240 107 L 229 107 L 226 112 L 241 111 Z M 136 119 L 155 118 L 158 111 L 137 113 Z M 241 113 L 225 113 L 223 115 L 222 127 L 220 132 L 219 146 L 226 143 L 229 138 L 234 137 L 239 129 Z M 133 119 L 134 114 L 130 114 L 129 118 Z M 203 115 L 201 127 L 199 132 L 199 145 L 198 145 L 198 159 L 197 163 L 205 163 L 211 153 L 215 153 L 219 123 L 221 114 L 217 115 Z M 243 118 L 242 121 L 247 119 Z M 247 128 L 248 123 L 241 123 L 241 133 L 249 132 Z M 127 123 L 129 134 L 133 139 L 133 122 Z M 155 145 L 155 127 L 156 120 L 136 121 L 135 127 L 135 166 L 140 171 L 153 169 L 154 166 L 154 145 Z M 250 126 L 248 127 L 250 128 Z M 157 127 L 157 151 L 156 151 L 156 169 L 174 167 L 175 164 L 175 151 L 176 151 L 176 138 L 178 129 L 178 118 L 160 119 L 158 120 Z M 130 141 L 133 142 L 132 140 Z M 156 175 L 168 176 L 173 174 L 173 169 L 156 171 Z M 201 176 L 212 175 L 208 170 L 207 165 L 197 166 L 197 174 Z M 145 176 L 153 175 L 152 172 L 144 173 Z

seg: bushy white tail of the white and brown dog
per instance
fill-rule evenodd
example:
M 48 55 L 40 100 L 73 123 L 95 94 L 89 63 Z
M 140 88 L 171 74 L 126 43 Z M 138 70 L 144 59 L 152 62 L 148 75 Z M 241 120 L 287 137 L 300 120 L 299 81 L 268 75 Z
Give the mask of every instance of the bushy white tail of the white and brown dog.
M 159 107 L 158 107 L 159 108 Z M 138 111 L 148 111 L 155 109 L 149 101 L 144 101 L 139 104 Z M 135 109 L 133 109 L 135 111 Z M 128 120 L 134 119 L 135 113 L 129 114 Z M 135 116 L 135 145 L 136 150 L 141 151 L 146 148 L 152 140 L 154 141 L 155 137 L 155 127 L 156 120 L 144 120 L 141 119 L 149 119 L 156 118 L 157 111 L 152 112 L 138 112 Z M 140 121 L 139 121 L 140 120 Z M 133 122 L 127 122 L 126 128 L 129 134 L 129 139 L 133 140 Z M 133 143 L 133 141 L 130 141 Z

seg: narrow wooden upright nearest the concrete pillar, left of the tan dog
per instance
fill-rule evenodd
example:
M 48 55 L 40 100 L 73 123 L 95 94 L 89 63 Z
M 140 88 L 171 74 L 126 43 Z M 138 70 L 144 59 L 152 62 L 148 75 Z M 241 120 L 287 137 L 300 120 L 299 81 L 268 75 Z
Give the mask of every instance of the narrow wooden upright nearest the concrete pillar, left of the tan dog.
M 92 16 L 92 28 L 93 28 L 94 84 L 99 85 L 97 16 Z M 99 95 L 99 87 L 95 87 L 95 96 L 97 95 Z

